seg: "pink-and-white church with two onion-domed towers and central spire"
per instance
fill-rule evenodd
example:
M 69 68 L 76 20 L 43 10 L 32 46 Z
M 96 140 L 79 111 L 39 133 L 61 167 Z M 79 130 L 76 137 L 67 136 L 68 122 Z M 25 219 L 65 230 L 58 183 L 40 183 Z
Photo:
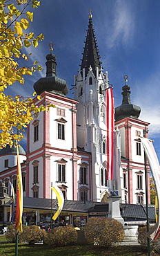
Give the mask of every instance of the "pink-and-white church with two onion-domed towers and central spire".
M 57 58 L 46 56 L 46 77 L 34 83 L 37 106 L 50 111 L 34 114 L 27 129 L 27 151 L 19 147 L 23 196 L 51 198 L 57 185 L 65 199 L 107 202 L 110 192 L 121 203 L 146 203 L 144 153 L 139 136 L 148 136 L 148 122 L 139 119 L 140 107 L 130 102 L 127 76 L 122 104 L 114 110 L 114 172 L 107 180 L 106 89 L 108 71 L 103 72 L 97 40 L 89 16 L 86 42 L 79 72 L 74 75 L 74 99 L 68 98 L 65 80 L 57 77 Z M 16 190 L 17 154 L 9 146 L 0 152 L 0 182 L 9 181 Z M 148 170 L 148 181 L 150 172 Z M 148 186 L 148 194 L 150 188 Z M 149 199 L 150 203 L 150 199 Z

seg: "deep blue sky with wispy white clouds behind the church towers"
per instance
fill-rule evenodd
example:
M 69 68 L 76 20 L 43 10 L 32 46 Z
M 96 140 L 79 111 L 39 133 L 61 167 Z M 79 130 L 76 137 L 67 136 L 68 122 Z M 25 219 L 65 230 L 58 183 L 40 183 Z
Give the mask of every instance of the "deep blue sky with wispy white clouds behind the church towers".
M 114 86 L 115 107 L 121 104 L 123 76 L 128 75 L 131 102 L 141 107 L 139 119 L 150 122 L 149 138 L 154 140 L 160 159 L 160 1 L 42 0 L 34 9 L 30 31 L 43 33 L 45 39 L 39 47 L 27 51 L 32 52 L 31 60 L 37 60 L 43 71 L 26 76 L 24 85 L 10 86 L 6 93 L 32 95 L 34 82 L 46 76 L 50 41 L 57 56 L 57 76 L 66 80 L 68 89 L 72 88 L 73 76 L 81 64 L 90 8 L 102 66 Z M 73 98 L 72 91 L 68 97 Z

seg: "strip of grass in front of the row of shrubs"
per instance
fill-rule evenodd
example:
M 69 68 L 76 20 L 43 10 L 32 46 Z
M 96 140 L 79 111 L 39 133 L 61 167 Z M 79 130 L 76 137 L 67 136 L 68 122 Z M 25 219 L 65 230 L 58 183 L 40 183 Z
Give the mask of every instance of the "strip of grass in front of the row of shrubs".
M 5 241 L 4 236 L 0 236 L 0 256 L 15 255 L 15 244 Z M 19 256 L 147 256 L 148 253 L 141 250 L 141 246 L 112 246 L 112 248 L 99 248 L 97 246 L 67 246 L 50 248 L 48 245 L 35 244 L 19 244 Z M 158 253 L 151 253 L 152 256 L 159 256 Z

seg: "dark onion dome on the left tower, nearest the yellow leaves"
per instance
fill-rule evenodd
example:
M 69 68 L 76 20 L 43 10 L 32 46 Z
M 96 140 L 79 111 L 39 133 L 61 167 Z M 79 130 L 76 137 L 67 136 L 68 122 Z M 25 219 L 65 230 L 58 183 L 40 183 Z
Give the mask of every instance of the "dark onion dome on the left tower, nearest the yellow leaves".
M 46 77 L 41 77 L 37 82 L 34 83 L 33 87 L 37 94 L 41 94 L 43 91 L 49 91 L 50 93 L 65 96 L 68 93 L 68 86 L 66 84 L 66 80 L 57 77 L 57 57 L 52 54 L 53 44 L 50 43 L 49 46 L 50 54 L 46 56 Z

